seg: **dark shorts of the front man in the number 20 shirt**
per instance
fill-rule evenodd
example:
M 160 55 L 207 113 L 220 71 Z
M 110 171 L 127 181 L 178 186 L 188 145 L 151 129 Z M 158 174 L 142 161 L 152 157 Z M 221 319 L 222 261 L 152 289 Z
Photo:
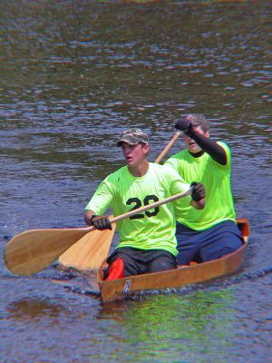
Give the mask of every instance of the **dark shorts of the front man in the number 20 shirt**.
M 175 256 L 167 250 L 139 250 L 121 247 L 113 251 L 107 262 L 111 265 L 118 258 L 123 261 L 124 277 L 177 268 Z

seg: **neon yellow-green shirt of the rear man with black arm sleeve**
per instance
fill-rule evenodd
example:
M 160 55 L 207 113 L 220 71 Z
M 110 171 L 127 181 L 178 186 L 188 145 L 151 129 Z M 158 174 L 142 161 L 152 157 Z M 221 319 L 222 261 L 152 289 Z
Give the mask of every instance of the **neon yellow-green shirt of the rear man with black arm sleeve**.
M 165 165 L 173 167 L 186 182 L 202 182 L 206 189 L 206 205 L 196 210 L 189 205 L 184 212 L 184 204 L 175 202 L 177 221 L 193 230 L 207 230 L 220 221 L 235 221 L 236 214 L 230 189 L 231 156 L 228 145 L 218 142 L 227 153 L 228 162 L 220 165 L 207 152 L 194 158 L 188 150 L 170 157 Z

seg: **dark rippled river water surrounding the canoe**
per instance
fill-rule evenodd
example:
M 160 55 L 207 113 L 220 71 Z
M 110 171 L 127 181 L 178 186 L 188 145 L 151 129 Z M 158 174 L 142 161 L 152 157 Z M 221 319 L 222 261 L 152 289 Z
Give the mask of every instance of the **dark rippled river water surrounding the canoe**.
M 1 361 L 271 361 L 271 15 L 269 1 L 0 2 Z M 53 283 L 69 278 L 56 262 L 5 268 L 15 234 L 84 226 L 122 130 L 148 132 L 154 160 L 180 113 L 231 148 L 243 270 L 102 305 L 80 276 Z

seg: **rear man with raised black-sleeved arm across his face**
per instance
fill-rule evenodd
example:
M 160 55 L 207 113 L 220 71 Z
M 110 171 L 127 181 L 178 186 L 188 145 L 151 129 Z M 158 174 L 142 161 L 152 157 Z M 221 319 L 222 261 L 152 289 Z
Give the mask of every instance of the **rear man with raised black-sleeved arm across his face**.
M 188 114 L 175 124 L 183 132 L 187 149 L 165 162 L 186 182 L 204 184 L 206 204 L 203 211 L 176 201 L 179 265 L 191 260 L 216 260 L 242 245 L 236 223 L 236 213 L 230 188 L 231 159 L 228 145 L 209 138 L 207 119 L 200 114 Z

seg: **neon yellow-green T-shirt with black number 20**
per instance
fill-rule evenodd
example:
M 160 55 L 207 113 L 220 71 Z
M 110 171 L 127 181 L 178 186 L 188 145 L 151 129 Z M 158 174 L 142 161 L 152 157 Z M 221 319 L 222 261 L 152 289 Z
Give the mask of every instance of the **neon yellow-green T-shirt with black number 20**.
M 188 189 L 189 184 L 170 167 L 150 162 L 148 172 L 136 178 L 124 166 L 100 184 L 85 210 L 102 215 L 112 208 L 113 215 L 118 216 Z M 183 200 L 188 204 L 191 198 Z M 173 202 L 126 218 L 116 223 L 120 237 L 117 248 L 168 250 L 176 256 L 175 224 Z

